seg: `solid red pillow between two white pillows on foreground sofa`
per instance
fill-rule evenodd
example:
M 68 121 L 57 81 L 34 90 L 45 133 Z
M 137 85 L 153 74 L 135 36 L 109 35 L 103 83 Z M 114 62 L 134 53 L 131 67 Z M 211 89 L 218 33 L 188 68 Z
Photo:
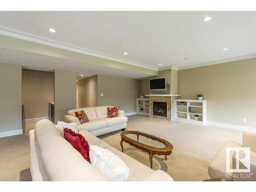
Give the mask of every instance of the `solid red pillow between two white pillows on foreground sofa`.
M 86 159 L 89 163 L 90 161 L 90 146 L 86 139 L 81 134 L 73 132 L 71 129 L 64 129 L 64 138 Z

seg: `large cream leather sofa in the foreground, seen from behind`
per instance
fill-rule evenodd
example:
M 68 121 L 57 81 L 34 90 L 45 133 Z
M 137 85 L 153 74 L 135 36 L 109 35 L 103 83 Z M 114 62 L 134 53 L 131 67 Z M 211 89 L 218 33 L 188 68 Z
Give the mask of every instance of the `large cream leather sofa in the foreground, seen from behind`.
M 162 170 L 153 170 L 88 131 L 80 134 L 89 142 L 112 151 L 130 168 L 134 181 L 173 181 Z M 56 126 L 47 119 L 40 120 L 29 132 L 30 172 L 33 181 L 108 181 L 63 138 Z

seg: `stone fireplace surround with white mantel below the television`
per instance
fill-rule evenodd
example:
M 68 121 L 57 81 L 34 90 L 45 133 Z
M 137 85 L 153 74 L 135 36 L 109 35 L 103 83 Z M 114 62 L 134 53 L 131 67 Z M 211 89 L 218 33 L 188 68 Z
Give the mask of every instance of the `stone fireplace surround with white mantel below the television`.
M 174 119 L 174 100 L 180 95 L 145 95 L 150 97 L 150 118 Z M 167 118 L 153 115 L 153 102 L 166 102 L 167 103 Z

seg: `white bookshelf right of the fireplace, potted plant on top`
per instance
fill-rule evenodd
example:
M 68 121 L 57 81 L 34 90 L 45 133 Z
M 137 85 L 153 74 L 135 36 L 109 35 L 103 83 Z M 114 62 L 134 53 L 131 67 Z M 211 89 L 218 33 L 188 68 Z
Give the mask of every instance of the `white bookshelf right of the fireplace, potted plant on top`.
M 181 102 L 184 102 L 182 105 Z M 206 125 L 207 117 L 207 101 L 206 100 L 174 100 L 174 119 L 172 121 L 180 121 L 184 123 Z M 190 111 L 189 111 L 190 108 Z M 198 115 L 198 120 L 194 115 Z

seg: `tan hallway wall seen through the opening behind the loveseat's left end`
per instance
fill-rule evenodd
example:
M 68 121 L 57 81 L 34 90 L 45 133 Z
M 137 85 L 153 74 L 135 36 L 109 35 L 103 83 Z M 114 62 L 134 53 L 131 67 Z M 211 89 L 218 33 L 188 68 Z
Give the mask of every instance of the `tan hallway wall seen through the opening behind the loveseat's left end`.
M 97 75 L 78 81 L 78 108 L 97 106 Z

